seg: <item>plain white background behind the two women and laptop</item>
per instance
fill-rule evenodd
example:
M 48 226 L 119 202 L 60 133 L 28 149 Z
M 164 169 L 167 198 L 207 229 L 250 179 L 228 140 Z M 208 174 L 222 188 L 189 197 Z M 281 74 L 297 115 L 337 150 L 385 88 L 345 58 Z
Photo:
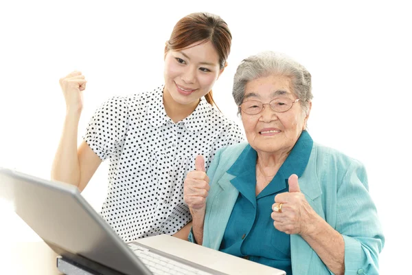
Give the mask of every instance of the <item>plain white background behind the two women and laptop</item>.
M 407 1 L 10 1 L 0 4 L 0 166 L 49 178 L 65 102 L 58 79 L 78 69 L 89 83 L 79 139 L 113 95 L 163 81 L 174 24 L 207 11 L 233 34 L 229 66 L 214 87 L 218 107 L 240 123 L 231 98 L 236 66 L 262 50 L 284 52 L 312 74 L 314 141 L 361 160 L 386 236 L 381 274 L 410 261 L 411 9 Z M 99 209 L 107 164 L 82 193 Z M 1 183 L 0 183 L 1 192 Z M 39 237 L 0 202 L 2 242 Z

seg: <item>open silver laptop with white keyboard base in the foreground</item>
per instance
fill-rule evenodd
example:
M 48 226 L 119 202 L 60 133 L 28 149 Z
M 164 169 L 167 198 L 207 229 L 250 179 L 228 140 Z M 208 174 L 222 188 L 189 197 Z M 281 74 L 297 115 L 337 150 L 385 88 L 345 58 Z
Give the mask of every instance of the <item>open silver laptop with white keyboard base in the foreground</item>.
M 0 167 L 0 189 L 68 275 L 286 274 L 164 234 L 125 243 L 70 184 Z

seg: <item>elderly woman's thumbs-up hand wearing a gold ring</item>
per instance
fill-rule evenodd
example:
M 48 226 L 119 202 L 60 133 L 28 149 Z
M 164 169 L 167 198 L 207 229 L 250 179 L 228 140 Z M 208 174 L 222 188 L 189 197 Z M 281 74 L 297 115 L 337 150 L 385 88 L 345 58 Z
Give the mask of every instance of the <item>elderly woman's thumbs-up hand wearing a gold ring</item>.
M 277 230 L 286 234 L 311 234 L 314 230 L 314 221 L 319 215 L 300 192 L 297 175 L 291 175 L 288 181 L 289 192 L 275 196 L 271 214 L 273 224 Z

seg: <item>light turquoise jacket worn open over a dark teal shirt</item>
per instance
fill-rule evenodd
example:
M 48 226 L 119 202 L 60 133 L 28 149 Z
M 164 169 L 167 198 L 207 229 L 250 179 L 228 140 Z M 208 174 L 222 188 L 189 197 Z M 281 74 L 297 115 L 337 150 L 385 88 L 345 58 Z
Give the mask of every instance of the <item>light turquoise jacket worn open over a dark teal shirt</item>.
M 203 245 L 219 250 L 238 190 L 227 173 L 247 143 L 220 149 L 207 175 L 210 190 L 206 201 Z M 255 164 L 251 164 L 255 165 Z M 310 206 L 345 241 L 345 274 L 379 274 L 378 254 L 385 239 L 376 207 L 368 192 L 364 166 L 339 151 L 314 143 L 299 187 Z M 190 234 L 190 241 L 194 242 Z M 316 252 L 298 234 L 290 236 L 293 274 L 332 274 Z

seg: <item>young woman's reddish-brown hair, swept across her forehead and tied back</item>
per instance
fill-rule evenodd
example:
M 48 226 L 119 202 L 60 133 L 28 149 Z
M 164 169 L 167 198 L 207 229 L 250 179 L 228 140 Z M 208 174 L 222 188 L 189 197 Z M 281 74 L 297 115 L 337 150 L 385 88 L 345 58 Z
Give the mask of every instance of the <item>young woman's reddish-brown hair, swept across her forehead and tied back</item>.
M 165 54 L 168 50 L 182 50 L 196 42 L 210 41 L 218 52 L 220 69 L 223 69 L 230 53 L 231 39 L 229 27 L 223 19 L 215 14 L 196 12 L 183 17 L 174 25 L 166 43 Z M 205 98 L 209 104 L 215 104 L 211 90 Z

